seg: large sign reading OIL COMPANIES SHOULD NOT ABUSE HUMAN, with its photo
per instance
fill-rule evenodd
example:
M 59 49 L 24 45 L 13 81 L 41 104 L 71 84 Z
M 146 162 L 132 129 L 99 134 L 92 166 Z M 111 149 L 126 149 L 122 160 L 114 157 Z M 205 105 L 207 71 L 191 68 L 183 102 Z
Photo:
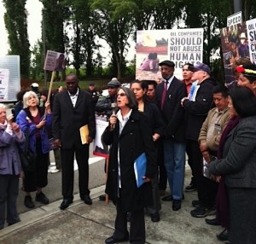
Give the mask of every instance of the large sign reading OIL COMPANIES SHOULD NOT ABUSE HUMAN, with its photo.
M 159 63 L 175 63 L 175 75 L 182 78 L 186 62 L 196 64 L 203 58 L 203 28 L 137 31 L 136 78 L 161 78 Z

